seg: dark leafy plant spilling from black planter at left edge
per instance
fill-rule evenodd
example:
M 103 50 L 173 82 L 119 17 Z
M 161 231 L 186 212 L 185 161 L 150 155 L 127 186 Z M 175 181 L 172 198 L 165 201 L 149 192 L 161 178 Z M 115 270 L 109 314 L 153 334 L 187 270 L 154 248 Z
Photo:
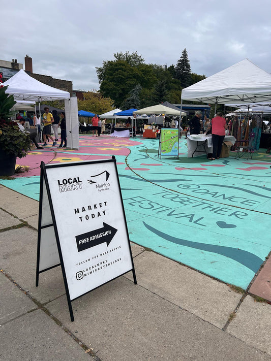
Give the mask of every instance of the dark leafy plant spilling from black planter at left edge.
M 0 149 L 22 158 L 31 146 L 31 139 L 20 131 L 18 124 L 9 119 L 14 106 L 13 95 L 6 94 L 7 86 L 0 87 Z

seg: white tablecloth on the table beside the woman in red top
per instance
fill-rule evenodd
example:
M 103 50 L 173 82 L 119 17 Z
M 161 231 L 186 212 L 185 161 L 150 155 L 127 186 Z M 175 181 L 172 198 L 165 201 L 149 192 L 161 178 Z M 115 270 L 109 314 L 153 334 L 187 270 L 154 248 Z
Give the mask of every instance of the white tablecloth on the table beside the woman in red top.
M 192 154 L 194 153 L 194 151 L 197 148 L 197 142 L 198 142 L 198 148 L 197 148 L 197 152 L 194 153 L 194 157 L 205 153 L 205 150 L 204 150 L 205 140 L 207 140 L 207 143 L 205 144 L 206 153 L 213 153 L 212 135 L 211 136 L 201 136 L 196 139 L 189 136 L 187 138 L 187 157 L 188 158 L 192 157 Z M 236 139 L 233 136 L 225 136 L 224 142 L 231 142 L 232 144 L 234 144 L 236 142 Z

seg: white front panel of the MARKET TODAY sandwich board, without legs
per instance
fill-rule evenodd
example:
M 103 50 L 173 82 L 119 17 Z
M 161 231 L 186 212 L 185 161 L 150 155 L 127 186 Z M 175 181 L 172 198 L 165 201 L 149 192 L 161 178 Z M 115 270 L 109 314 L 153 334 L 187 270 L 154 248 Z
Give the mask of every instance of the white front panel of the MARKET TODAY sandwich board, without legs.
M 133 269 L 115 162 L 45 168 L 72 301 Z

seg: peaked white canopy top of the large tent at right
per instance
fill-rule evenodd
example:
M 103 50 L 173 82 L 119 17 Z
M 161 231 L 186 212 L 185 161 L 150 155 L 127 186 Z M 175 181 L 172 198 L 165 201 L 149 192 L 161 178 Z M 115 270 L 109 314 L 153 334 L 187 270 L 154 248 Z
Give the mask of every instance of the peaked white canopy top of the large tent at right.
M 208 104 L 271 101 L 271 75 L 245 59 L 183 89 L 183 100 Z

